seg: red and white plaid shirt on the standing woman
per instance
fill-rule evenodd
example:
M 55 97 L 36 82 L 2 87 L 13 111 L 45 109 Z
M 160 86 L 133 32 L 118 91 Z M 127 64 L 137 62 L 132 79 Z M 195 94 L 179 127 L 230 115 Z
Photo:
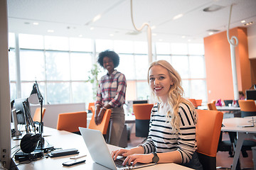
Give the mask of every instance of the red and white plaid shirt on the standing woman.
M 112 74 L 106 74 L 99 81 L 96 106 L 110 104 L 113 108 L 125 103 L 125 91 L 127 82 L 124 74 L 114 70 Z

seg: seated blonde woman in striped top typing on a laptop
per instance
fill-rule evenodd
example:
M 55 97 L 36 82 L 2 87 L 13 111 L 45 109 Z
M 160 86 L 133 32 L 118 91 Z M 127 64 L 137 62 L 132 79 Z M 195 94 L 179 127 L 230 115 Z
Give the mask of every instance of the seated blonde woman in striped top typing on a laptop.
M 120 155 L 127 157 L 123 164 L 174 162 L 203 169 L 196 154 L 196 111 L 182 97 L 180 75 L 169 62 L 159 60 L 149 67 L 148 83 L 159 101 L 151 111 L 149 136 L 142 145 L 115 150 L 113 159 Z

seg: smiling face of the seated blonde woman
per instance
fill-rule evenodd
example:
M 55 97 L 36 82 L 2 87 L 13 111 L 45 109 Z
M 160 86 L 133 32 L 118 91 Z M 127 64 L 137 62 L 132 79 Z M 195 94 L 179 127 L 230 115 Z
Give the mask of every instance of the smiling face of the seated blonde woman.
M 168 91 L 174 82 L 169 76 L 169 71 L 160 65 L 154 65 L 149 69 L 149 85 L 159 98 L 166 98 Z

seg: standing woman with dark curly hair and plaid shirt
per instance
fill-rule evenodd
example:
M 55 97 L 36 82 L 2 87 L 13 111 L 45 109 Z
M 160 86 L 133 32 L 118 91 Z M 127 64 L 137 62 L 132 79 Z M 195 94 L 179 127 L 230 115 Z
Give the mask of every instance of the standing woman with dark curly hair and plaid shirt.
M 95 102 L 95 123 L 99 125 L 105 111 L 111 109 L 106 140 L 108 144 L 118 146 L 124 128 L 123 104 L 125 103 L 127 82 L 124 74 L 114 69 L 119 65 L 119 56 L 116 52 L 110 50 L 100 52 L 97 62 L 101 67 L 107 69 L 107 74 L 99 81 L 97 101 Z

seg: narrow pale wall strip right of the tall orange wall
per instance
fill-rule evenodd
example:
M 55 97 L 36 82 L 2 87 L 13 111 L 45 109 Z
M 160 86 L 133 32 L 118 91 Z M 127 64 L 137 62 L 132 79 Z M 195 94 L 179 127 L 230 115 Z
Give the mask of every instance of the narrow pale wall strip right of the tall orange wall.
M 256 59 L 256 25 L 247 28 L 249 59 Z

